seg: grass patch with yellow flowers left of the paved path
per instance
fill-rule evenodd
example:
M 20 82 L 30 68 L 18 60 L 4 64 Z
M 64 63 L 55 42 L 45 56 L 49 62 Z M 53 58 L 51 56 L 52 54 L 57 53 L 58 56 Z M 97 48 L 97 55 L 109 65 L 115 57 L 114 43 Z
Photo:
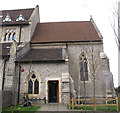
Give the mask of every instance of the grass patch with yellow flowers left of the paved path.
M 36 112 L 40 106 L 28 106 L 28 107 L 23 107 L 22 105 L 17 105 L 17 106 L 11 106 L 7 108 L 2 109 L 2 113 L 34 113 Z

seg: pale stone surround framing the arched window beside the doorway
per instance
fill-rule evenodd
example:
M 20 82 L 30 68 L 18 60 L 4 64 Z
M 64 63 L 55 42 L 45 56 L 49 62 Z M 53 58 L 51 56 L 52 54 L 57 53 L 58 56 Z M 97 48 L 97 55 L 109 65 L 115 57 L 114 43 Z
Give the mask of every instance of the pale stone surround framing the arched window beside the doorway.
M 35 72 L 32 71 L 30 72 L 30 74 L 27 76 L 26 78 L 26 82 L 25 82 L 25 93 L 28 93 L 28 81 L 32 78 L 32 75 L 35 74 L 36 75 L 36 79 L 39 81 L 39 94 L 28 94 L 29 98 L 40 98 L 40 92 L 41 92 L 41 79 L 39 77 L 39 75 Z M 33 85 L 34 87 L 34 85 Z

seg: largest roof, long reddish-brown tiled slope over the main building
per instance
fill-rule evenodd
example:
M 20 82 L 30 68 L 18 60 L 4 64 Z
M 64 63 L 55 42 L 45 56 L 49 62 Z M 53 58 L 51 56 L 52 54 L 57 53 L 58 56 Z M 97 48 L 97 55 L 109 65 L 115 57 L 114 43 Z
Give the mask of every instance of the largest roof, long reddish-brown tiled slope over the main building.
M 101 41 L 91 21 L 38 23 L 31 43 Z

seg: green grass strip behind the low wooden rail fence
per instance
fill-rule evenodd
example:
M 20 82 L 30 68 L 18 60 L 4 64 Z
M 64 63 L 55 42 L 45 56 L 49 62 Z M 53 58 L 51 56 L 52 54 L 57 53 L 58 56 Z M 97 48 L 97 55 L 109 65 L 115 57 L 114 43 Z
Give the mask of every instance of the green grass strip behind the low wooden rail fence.
M 69 107 L 68 107 L 69 108 Z M 96 107 L 97 109 L 97 111 L 111 111 L 111 112 L 117 112 L 117 106 L 116 105 L 114 105 L 114 106 L 108 106 L 107 108 L 106 108 L 106 106 L 97 106 Z M 72 109 L 72 106 L 71 106 L 71 109 Z M 90 107 L 74 107 L 74 109 L 76 109 L 76 110 L 88 110 L 88 111 L 93 111 L 94 110 L 94 108 L 92 107 L 92 106 L 90 106 Z

